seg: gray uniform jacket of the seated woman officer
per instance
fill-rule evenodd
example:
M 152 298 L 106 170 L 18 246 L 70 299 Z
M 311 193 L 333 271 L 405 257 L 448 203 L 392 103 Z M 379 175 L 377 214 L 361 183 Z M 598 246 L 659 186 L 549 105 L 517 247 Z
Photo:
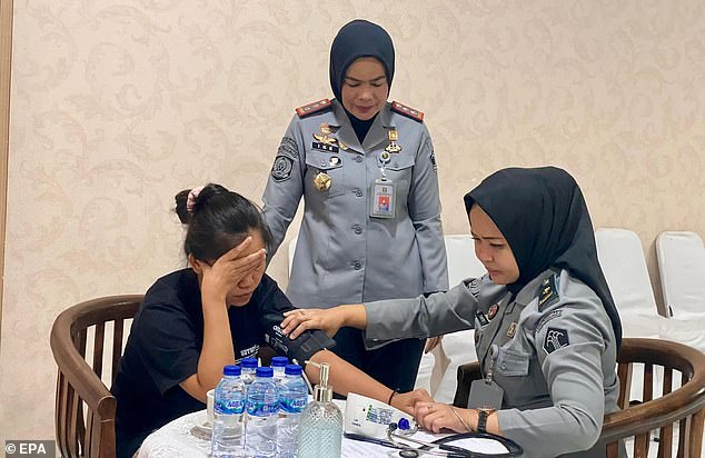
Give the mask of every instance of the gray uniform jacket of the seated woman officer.
M 617 410 L 615 336 L 600 299 L 568 271 L 547 270 L 515 299 L 485 276 L 365 307 L 369 347 L 474 328 L 483 374 L 493 370 L 504 389 L 499 428 L 525 456 L 604 456 L 595 442 L 604 415 Z

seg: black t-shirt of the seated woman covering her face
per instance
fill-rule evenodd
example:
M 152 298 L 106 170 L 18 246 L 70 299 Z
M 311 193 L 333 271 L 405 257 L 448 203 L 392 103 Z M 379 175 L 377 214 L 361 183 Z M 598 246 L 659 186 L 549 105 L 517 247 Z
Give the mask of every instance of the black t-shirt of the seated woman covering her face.
M 279 323 L 291 309 L 277 282 L 265 275 L 249 303 L 228 309 L 236 359 L 256 356 L 266 345 L 302 364 L 335 345 L 321 331 L 305 332 L 296 340 L 282 336 Z M 135 316 L 111 389 L 118 401 L 118 457 L 131 457 L 155 429 L 206 408 L 179 386 L 198 371 L 202 345 L 196 273 L 183 269 L 157 280 Z

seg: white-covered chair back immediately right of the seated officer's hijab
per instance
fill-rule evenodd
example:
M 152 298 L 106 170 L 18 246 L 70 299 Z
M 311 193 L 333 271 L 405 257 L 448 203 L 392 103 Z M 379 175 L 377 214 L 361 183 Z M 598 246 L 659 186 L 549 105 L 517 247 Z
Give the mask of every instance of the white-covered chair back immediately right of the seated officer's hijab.
M 638 236 L 627 229 L 595 231 L 597 257 L 620 315 L 657 315 L 646 258 Z

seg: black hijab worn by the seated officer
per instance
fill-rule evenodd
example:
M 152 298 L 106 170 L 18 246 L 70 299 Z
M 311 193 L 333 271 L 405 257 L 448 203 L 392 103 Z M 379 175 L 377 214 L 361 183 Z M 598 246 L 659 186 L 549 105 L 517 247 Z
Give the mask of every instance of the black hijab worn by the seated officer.
M 481 207 L 512 247 L 519 279 L 507 285 L 516 293 L 546 269 L 566 269 L 602 299 L 622 342 L 622 323 L 597 260 L 595 232 L 583 192 L 563 169 L 499 170 L 465 195 L 469 213 Z

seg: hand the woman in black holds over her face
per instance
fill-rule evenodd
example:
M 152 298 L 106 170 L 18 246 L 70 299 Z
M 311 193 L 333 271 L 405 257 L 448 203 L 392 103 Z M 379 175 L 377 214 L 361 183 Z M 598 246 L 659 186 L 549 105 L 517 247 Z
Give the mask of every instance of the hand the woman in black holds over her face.
M 218 258 L 212 266 L 195 260 L 201 268 L 203 276 L 201 280 L 201 296 L 203 298 L 215 299 L 220 302 L 225 301 L 228 295 L 240 296 L 251 291 L 251 286 L 240 288 L 240 280 L 257 269 L 264 270 L 267 255 L 266 250 L 261 249 L 251 255 L 242 256 L 242 251 L 251 243 L 252 238 L 248 237 L 240 245 Z

